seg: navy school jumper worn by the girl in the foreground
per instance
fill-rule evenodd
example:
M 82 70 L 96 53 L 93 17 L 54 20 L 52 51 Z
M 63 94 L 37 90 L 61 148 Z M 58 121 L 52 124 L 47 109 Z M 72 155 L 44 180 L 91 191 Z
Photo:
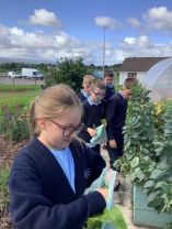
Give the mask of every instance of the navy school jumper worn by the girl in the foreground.
M 18 154 L 9 182 L 10 211 L 16 229 L 82 229 L 90 216 L 105 208 L 99 192 L 83 194 L 105 167 L 104 160 L 77 139 L 69 148 L 76 193 L 56 159 L 37 139 Z

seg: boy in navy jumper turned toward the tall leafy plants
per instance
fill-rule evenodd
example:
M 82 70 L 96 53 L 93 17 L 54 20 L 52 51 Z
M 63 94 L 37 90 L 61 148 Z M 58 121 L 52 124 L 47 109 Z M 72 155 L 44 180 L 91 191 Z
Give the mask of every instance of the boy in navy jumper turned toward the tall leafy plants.
M 131 87 L 137 83 L 136 78 L 126 78 L 122 90 L 115 92 L 106 102 L 105 119 L 107 123 L 107 152 L 110 156 L 110 165 L 113 170 L 115 170 L 114 162 L 123 155 L 123 128 L 125 126 L 127 112 L 127 100 L 131 95 Z

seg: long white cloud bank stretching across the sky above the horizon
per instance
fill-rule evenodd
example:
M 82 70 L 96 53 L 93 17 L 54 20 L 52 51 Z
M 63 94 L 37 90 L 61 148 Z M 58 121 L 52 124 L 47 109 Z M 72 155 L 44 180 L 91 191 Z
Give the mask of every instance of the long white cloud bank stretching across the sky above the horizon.
M 64 31 L 45 34 L 42 31 L 26 32 L 19 28 L 0 25 L 0 56 L 42 61 L 56 61 L 60 57 L 83 56 L 84 63 L 102 65 L 103 43 L 79 41 Z M 156 44 L 147 35 L 124 37 L 119 43 L 106 41 L 105 65 L 122 63 L 131 56 L 171 56 L 172 41 Z

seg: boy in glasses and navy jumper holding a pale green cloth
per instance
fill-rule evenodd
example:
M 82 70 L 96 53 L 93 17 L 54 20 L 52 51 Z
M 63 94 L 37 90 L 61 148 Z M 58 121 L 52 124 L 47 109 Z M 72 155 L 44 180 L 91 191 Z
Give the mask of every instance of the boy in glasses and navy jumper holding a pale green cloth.
M 104 92 L 104 81 L 95 78 L 91 84 L 90 97 L 82 102 L 84 129 L 79 133 L 79 137 L 98 153 L 100 153 L 100 144 L 92 144 L 90 140 L 96 134 L 95 128 L 101 126 L 101 120 L 104 119 L 104 103 L 102 102 Z

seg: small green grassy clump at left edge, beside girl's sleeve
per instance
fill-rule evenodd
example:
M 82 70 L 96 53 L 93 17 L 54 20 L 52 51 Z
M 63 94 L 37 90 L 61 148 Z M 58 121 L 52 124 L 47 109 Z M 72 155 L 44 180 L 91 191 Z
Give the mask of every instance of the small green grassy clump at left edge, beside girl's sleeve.
M 9 182 L 9 166 L 4 166 L 0 171 L 0 206 L 5 208 L 9 204 L 9 189 L 8 189 L 8 182 Z

